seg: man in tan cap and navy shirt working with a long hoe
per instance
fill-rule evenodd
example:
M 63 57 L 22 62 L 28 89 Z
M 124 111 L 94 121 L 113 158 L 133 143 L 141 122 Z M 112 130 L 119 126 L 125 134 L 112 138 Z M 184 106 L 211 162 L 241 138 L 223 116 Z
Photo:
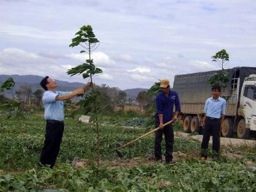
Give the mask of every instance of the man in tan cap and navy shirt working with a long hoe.
M 162 79 L 160 82 L 161 92 L 156 97 L 156 127 L 160 127 L 156 131 L 155 139 L 155 158 L 156 161 L 162 161 L 161 142 L 164 134 L 164 140 L 166 144 L 165 150 L 165 162 L 172 162 L 173 152 L 173 127 L 172 124 L 163 126 L 163 124 L 173 119 L 173 123 L 177 120 L 180 111 L 179 95 L 176 92 L 170 90 L 170 82 L 168 79 Z M 175 116 L 173 116 L 173 106 L 175 105 Z

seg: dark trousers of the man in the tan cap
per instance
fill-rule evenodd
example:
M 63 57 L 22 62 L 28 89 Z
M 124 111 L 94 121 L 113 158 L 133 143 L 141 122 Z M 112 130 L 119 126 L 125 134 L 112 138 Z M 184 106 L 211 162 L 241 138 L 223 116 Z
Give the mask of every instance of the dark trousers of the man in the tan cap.
M 157 125 L 159 127 L 159 125 Z M 156 131 L 156 139 L 155 139 L 155 157 L 156 160 L 162 159 L 162 138 L 164 134 L 165 140 L 165 161 L 172 161 L 172 152 L 173 152 L 173 141 L 174 141 L 174 134 L 172 125 L 164 126 L 164 129 L 159 129 Z

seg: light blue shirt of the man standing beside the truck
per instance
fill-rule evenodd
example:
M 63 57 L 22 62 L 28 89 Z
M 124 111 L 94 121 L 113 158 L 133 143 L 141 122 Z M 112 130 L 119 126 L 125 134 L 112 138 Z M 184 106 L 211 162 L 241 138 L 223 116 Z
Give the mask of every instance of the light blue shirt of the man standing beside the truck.
M 226 100 L 219 97 L 217 100 L 213 99 L 213 97 L 208 98 L 205 101 L 204 105 L 204 113 L 206 116 L 212 118 L 220 118 L 221 115 L 226 114 Z

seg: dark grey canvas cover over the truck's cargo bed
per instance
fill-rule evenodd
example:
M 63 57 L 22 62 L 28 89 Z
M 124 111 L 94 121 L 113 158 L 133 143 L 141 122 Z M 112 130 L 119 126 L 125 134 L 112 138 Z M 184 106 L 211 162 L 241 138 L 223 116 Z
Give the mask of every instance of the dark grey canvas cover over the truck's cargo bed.
M 237 102 L 239 102 L 241 87 L 243 85 L 244 78 L 250 76 L 250 74 L 256 74 L 256 67 L 235 67 L 226 69 L 225 71 L 228 74 L 229 81 L 228 83 L 226 83 L 227 87 L 221 89 L 221 95 L 230 97 L 230 95 L 232 94 L 232 87 L 234 86 L 234 81 L 237 81 L 234 80 L 234 78 L 239 79 L 236 82 L 238 83 L 236 95 L 232 95 L 232 97 L 230 97 L 227 102 L 228 104 L 232 105 L 230 106 L 230 108 L 232 108 L 232 111 L 230 111 L 230 115 L 235 115 L 234 113 L 236 113 Z M 220 70 L 175 76 L 173 90 L 179 94 L 180 103 L 183 107 L 183 109 L 181 110 L 183 113 L 188 112 L 188 110 L 189 112 L 202 113 L 202 104 L 204 104 L 207 98 L 212 97 L 211 85 L 207 82 L 210 77 L 216 74 L 216 72 L 220 72 Z M 194 106 L 184 106 L 184 104 L 193 104 Z M 200 104 L 201 107 L 196 106 L 196 104 Z

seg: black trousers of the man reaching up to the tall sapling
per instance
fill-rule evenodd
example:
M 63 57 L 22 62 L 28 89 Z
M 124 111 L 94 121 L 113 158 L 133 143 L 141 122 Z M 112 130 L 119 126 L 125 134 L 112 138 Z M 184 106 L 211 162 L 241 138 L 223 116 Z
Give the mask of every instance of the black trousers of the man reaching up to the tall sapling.
M 42 148 L 40 163 L 49 164 L 52 168 L 60 151 L 60 144 L 64 131 L 64 123 L 47 120 L 44 147 Z

